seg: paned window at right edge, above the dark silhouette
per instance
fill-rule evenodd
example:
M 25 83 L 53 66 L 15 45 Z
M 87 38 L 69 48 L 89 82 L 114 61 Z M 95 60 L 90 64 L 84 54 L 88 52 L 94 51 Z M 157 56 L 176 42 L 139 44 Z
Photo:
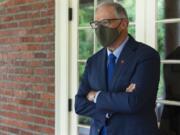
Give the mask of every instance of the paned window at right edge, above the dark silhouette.
M 160 53 L 161 81 L 158 96 L 163 95 L 163 64 L 170 64 L 164 61 L 166 57 L 177 47 L 180 46 L 180 1 L 158 0 L 157 1 L 157 50 Z

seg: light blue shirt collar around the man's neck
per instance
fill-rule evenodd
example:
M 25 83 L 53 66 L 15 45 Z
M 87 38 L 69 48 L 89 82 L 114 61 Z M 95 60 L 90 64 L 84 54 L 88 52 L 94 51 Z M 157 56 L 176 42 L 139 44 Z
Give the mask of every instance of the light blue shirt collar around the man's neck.
M 127 43 L 129 39 L 129 36 L 127 36 L 127 38 L 120 44 L 120 46 L 118 48 L 116 48 L 113 52 L 111 52 L 109 49 L 107 49 L 107 55 L 109 56 L 111 53 L 113 53 L 116 56 L 116 62 L 122 52 L 122 49 L 124 48 L 125 44 Z

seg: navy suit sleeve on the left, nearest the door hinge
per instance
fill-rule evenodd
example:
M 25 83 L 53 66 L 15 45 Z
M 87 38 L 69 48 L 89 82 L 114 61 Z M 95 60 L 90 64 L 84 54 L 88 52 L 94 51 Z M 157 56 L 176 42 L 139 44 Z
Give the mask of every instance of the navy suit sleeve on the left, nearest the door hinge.
M 91 118 L 105 117 L 105 112 L 96 109 L 96 104 L 87 100 L 86 95 L 91 90 L 88 82 L 89 62 L 87 61 L 79 90 L 75 96 L 75 111 L 79 115 Z M 98 112 L 98 113 L 97 113 Z M 104 114 L 104 115 L 102 115 Z

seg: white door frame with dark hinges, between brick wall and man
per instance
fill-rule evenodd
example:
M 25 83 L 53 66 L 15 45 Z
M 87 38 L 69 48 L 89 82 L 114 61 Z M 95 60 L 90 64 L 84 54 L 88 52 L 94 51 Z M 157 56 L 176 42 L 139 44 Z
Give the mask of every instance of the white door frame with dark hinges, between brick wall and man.
M 55 0 L 55 135 L 77 135 L 77 0 Z M 69 21 L 69 8 L 73 19 Z M 69 111 L 71 99 L 71 111 Z

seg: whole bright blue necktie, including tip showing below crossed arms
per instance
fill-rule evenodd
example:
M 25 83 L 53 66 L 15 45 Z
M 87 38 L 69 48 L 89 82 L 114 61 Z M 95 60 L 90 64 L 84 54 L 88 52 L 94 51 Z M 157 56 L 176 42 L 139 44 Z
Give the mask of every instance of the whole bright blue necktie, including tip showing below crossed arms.
M 108 56 L 108 67 L 107 67 L 107 76 L 108 76 L 108 89 L 112 81 L 113 72 L 116 64 L 116 56 L 114 56 L 113 53 L 111 53 Z M 102 128 L 101 135 L 107 135 L 106 127 Z

